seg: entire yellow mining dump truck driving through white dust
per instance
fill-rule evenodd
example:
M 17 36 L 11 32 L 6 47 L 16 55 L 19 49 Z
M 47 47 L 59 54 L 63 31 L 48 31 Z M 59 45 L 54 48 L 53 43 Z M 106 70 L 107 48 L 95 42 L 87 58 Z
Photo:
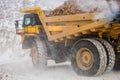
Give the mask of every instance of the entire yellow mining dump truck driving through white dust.
M 23 49 L 31 49 L 35 68 L 47 60 L 71 60 L 78 75 L 96 76 L 120 67 L 120 15 L 112 21 L 93 20 L 94 13 L 49 16 L 40 8 L 21 9 L 22 28 L 15 21 Z M 115 57 L 116 56 L 116 57 Z

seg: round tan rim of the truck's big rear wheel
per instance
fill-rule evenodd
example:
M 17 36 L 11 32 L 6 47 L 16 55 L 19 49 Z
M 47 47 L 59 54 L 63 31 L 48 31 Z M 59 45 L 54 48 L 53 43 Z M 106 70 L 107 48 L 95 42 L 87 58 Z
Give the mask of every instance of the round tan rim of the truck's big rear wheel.
M 76 54 L 76 64 L 81 70 L 89 70 L 93 66 L 92 52 L 87 48 L 80 48 Z

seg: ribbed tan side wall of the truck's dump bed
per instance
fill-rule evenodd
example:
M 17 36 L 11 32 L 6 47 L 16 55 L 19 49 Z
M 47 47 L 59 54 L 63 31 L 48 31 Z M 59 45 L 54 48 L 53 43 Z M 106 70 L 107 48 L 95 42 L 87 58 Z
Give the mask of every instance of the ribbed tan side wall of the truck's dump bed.
M 102 20 L 94 21 L 94 14 L 75 14 L 66 16 L 45 17 L 45 28 L 48 29 L 50 40 L 64 40 L 91 32 L 98 32 L 101 28 L 107 27 Z M 55 30 L 52 30 L 55 29 Z

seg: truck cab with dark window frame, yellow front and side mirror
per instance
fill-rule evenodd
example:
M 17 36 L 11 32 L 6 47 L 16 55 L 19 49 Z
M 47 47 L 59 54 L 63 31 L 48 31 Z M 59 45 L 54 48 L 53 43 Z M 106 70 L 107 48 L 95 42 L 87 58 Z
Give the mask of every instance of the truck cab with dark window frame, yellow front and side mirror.
M 39 28 L 42 25 L 39 16 L 36 13 L 24 14 L 23 23 L 15 21 L 16 34 L 39 34 Z

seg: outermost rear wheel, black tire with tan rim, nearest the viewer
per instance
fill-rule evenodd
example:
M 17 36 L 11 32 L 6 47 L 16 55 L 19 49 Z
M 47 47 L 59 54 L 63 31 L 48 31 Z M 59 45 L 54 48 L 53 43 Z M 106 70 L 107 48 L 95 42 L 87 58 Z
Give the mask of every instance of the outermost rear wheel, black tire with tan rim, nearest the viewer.
M 96 76 L 105 71 L 106 51 L 100 42 L 82 39 L 74 45 L 72 53 L 72 66 L 78 75 Z

